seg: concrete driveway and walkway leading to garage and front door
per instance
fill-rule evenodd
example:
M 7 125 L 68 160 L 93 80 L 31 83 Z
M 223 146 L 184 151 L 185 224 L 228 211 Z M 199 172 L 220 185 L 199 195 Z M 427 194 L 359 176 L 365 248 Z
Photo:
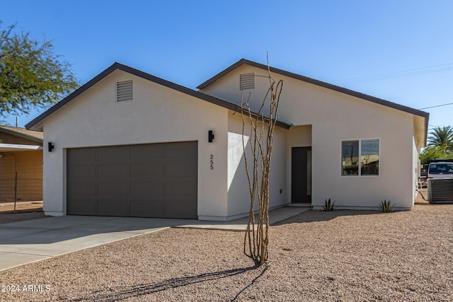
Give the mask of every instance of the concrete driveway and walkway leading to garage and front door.
M 311 207 L 282 207 L 270 211 L 270 224 Z M 93 248 L 166 228 L 209 228 L 244 231 L 248 218 L 229 222 L 101 216 L 59 216 L 0 224 L 0 271 Z

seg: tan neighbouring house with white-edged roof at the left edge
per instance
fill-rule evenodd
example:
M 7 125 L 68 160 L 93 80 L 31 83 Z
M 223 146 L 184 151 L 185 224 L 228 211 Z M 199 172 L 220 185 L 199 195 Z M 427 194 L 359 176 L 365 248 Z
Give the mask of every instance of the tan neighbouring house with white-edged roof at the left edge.
M 0 202 L 15 194 L 17 201 L 42 200 L 42 132 L 1 125 Z

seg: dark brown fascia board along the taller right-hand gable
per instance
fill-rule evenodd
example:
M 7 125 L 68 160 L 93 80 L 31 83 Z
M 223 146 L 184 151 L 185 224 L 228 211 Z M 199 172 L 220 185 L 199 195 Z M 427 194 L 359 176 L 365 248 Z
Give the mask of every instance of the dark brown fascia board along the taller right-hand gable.
M 200 86 L 197 86 L 197 89 L 202 89 L 202 88 L 207 87 L 211 83 L 214 83 L 215 81 L 220 79 L 225 74 L 228 74 L 230 71 L 232 71 L 233 69 L 236 69 L 237 67 L 239 67 L 239 66 L 241 66 L 243 64 L 246 64 L 246 65 L 249 65 L 249 66 L 254 66 L 254 67 L 257 67 L 259 69 L 264 69 L 265 71 L 268 71 L 268 66 L 265 65 L 265 64 L 260 64 L 260 63 L 257 63 L 257 62 L 249 61 L 247 59 L 240 59 L 238 62 L 234 63 L 233 65 L 231 65 L 228 68 L 224 69 L 223 71 L 219 72 L 219 74 L 213 76 L 211 79 L 209 79 L 209 80 L 205 81 L 204 83 L 200 84 Z M 352 95 L 352 96 L 355 96 L 356 98 L 362 98 L 363 100 L 369 100 L 370 102 L 377 103 L 379 105 L 384 105 L 384 106 L 387 106 L 387 107 L 390 107 L 390 108 L 394 108 L 396 110 L 401 110 L 403 112 L 408 112 L 408 113 L 411 113 L 413 115 L 419 115 L 420 117 L 425 117 L 426 119 L 428 119 L 428 117 L 429 117 L 428 112 L 424 112 L 424 111 L 421 111 L 421 110 L 416 110 L 416 109 L 413 109 L 413 108 L 410 108 L 410 107 L 407 107 L 407 106 L 404 106 L 404 105 L 393 103 L 393 102 L 390 102 L 389 100 L 383 100 L 381 98 L 376 98 L 374 96 L 367 95 L 365 93 L 352 91 L 352 90 L 350 90 L 348 88 L 343 88 L 343 87 L 340 87 L 340 86 L 333 85 L 331 83 L 326 83 L 326 82 L 323 82 L 323 81 L 311 79 L 311 78 L 309 78 L 307 76 L 301 76 L 300 74 L 294 74 L 292 72 L 285 71 L 285 70 L 282 70 L 282 69 L 277 69 L 275 67 L 269 67 L 269 70 L 270 70 L 270 72 L 273 72 L 275 74 L 281 74 L 282 76 L 288 76 L 289 78 L 292 78 L 292 79 L 297 79 L 297 80 L 300 80 L 300 81 L 304 81 L 306 83 L 314 84 L 316 86 L 321 86 L 323 88 L 328 88 L 328 89 L 331 89 L 333 91 L 338 91 L 340 93 L 345 93 L 347 95 Z

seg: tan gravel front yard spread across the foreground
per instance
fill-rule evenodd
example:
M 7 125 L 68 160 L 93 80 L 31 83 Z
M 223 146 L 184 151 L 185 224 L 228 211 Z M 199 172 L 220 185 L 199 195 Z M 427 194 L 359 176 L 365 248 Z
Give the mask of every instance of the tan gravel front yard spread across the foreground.
M 307 211 L 270 228 L 267 269 L 242 240 L 171 228 L 74 252 L 0 272 L 20 289 L 0 301 L 452 301 L 453 204 Z

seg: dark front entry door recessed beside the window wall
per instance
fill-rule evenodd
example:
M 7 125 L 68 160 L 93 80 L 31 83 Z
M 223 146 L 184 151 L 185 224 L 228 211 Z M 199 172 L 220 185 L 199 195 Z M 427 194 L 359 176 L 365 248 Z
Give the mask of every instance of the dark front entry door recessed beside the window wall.
M 291 202 L 311 202 L 311 147 L 291 149 Z

